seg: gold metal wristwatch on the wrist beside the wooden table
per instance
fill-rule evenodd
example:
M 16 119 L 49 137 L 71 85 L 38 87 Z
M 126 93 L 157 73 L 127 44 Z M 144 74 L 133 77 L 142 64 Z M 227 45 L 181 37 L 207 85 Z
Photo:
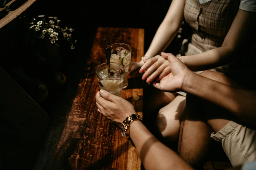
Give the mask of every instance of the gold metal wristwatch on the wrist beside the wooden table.
M 121 123 L 121 133 L 122 133 L 122 136 L 124 138 L 127 138 L 127 139 L 130 139 L 129 136 L 130 136 L 130 132 L 129 132 L 129 126 L 131 124 L 131 122 L 135 121 L 135 120 L 140 120 L 143 122 L 142 118 L 140 117 L 140 115 L 138 115 L 137 113 L 136 114 L 132 114 L 130 116 L 128 116 L 124 121 L 123 123 Z

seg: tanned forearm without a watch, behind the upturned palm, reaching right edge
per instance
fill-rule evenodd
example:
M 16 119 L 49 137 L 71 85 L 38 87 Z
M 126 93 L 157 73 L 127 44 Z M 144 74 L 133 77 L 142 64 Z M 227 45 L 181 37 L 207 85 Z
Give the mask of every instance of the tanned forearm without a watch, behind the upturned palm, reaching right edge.
M 234 88 L 194 72 L 186 77 L 182 89 L 222 106 L 233 116 L 255 125 L 256 91 Z

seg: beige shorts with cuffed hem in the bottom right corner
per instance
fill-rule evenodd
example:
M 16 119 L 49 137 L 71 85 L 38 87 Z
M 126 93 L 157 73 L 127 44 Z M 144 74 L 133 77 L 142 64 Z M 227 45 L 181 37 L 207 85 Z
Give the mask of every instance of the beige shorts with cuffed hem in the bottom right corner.
M 233 167 L 256 160 L 256 128 L 240 120 L 230 121 L 211 137 L 221 142 Z

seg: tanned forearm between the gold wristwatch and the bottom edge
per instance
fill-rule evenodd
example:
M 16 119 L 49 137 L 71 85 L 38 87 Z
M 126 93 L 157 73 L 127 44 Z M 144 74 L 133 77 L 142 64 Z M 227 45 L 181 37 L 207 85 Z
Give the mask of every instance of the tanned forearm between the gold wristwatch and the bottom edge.
M 178 154 L 157 140 L 141 121 L 132 122 L 129 130 L 146 170 L 192 169 Z

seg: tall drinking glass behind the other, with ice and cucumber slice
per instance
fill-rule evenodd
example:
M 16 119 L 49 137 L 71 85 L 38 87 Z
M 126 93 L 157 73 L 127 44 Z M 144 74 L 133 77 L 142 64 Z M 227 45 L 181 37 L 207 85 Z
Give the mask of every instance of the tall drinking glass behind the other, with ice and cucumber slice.
M 111 49 L 110 62 L 124 66 L 125 75 L 122 89 L 128 86 L 128 71 L 131 61 L 131 47 L 125 43 L 115 43 L 108 46 Z

